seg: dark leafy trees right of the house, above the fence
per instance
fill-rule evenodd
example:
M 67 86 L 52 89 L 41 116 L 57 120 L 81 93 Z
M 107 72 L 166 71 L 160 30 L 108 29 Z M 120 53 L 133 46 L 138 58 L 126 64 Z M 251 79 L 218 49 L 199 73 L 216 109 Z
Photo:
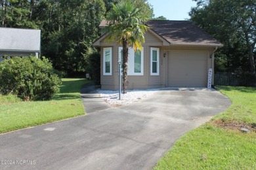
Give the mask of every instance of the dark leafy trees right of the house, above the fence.
M 255 73 L 256 1 L 194 1 L 198 6 L 191 10 L 191 20 L 224 44 L 223 53 L 227 61 L 232 60 L 230 66 L 247 58 L 245 65 Z

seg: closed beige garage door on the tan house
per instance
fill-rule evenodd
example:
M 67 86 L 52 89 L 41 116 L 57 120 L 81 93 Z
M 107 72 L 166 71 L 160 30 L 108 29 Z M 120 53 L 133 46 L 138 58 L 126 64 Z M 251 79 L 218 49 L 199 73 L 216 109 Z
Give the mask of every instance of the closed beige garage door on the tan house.
M 207 86 L 207 52 L 171 51 L 168 57 L 168 86 Z

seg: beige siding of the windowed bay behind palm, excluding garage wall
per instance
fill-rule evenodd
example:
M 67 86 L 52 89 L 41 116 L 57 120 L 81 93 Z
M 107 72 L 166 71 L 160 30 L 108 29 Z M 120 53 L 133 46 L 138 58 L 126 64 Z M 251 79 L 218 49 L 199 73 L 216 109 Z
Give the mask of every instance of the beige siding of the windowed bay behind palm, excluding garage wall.
M 150 76 L 150 47 L 156 47 L 160 48 L 160 46 L 163 45 L 163 41 L 161 41 L 156 35 L 147 32 L 145 35 L 145 41 L 147 43 L 144 43 L 142 46 L 144 48 L 144 70 L 143 75 L 137 76 L 137 75 L 128 75 L 128 88 L 129 89 L 147 89 L 147 88 L 159 88 L 163 84 L 161 75 L 162 68 L 161 68 L 161 49 L 160 49 L 160 75 L 159 76 Z M 102 39 L 100 41 L 100 45 L 106 47 L 112 46 L 112 76 L 104 76 L 101 70 L 101 85 L 102 89 L 104 90 L 117 90 L 118 89 L 118 47 L 121 46 L 121 44 L 117 43 L 110 43 L 106 41 L 106 39 Z M 109 45 L 109 46 L 108 46 Z M 101 48 L 101 51 L 103 48 Z M 103 53 L 102 53 L 103 55 Z M 101 58 L 102 59 L 102 58 Z M 101 68 L 103 60 L 101 61 Z M 164 82 L 165 84 L 165 82 Z

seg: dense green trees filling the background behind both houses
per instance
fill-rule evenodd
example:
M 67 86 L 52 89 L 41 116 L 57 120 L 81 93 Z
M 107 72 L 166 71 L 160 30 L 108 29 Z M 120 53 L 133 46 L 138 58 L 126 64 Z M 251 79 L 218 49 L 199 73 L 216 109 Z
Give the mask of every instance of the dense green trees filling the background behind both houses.
M 255 74 L 256 1 L 190 0 L 191 21 L 224 44 L 217 50 L 215 71 L 239 76 Z M 41 52 L 66 76 L 98 77 L 99 53 L 91 44 L 100 37 L 98 25 L 117 0 L 0 0 L 0 25 L 41 29 Z M 136 0 L 154 18 L 147 0 Z M 97 65 L 97 67 L 100 67 Z M 96 74 L 95 74 L 96 73 Z

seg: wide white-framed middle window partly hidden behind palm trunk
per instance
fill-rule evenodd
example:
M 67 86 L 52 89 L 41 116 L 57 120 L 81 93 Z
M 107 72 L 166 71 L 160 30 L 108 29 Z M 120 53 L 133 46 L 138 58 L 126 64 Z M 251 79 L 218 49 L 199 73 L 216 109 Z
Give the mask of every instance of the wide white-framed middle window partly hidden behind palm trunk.
M 143 48 L 142 50 L 128 50 L 128 75 L 143 75 Z M 123 61 L 123 47 L 118 49 L 118 59 Z

